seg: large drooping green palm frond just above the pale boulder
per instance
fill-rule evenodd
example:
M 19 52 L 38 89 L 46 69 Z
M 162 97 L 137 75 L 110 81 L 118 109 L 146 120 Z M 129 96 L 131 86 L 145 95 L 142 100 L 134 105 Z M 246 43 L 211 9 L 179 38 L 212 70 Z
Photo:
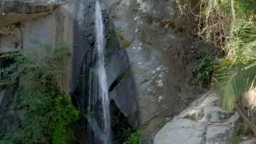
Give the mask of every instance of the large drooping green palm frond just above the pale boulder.
M 232 110 L 237 96 L 255 88 L 256 84 L 256 59 L 237 59 L 227 61 L 222 69 L 215 72 L 217 83 L 216 93 L 221 96 L 222 107 Z

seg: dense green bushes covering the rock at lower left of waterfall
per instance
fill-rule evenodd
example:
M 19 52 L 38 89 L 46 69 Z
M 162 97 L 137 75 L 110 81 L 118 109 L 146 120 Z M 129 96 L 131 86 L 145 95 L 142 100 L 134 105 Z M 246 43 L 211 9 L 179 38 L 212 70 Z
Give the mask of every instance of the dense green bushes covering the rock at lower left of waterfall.
M 53 52 L 43 48 L 37 53 L 8 54 L 14 62 L 1 71 L 1 80 L 15 88 L 15 98 L 6 109 L 14 111 L 19 122 L 0 135 L 0 144 L 70 144 L 74 140 L 71 126 L 80 112 L 56 83 L 65 72 L 61 61 L 68 55 L 64 45 Z

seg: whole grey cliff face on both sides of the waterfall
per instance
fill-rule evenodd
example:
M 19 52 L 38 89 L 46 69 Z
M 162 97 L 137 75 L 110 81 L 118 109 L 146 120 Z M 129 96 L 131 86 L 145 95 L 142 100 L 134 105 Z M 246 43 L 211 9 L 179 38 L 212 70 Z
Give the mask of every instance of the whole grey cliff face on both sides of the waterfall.
M 4 57 L 19 47 L 40 53 L 43 45 L 54 47 L 64 42 L 72 56 L 65 57 L 67 74 L 58 81 L 64 91 L 73 93 L 80 70 L 86 71 L 94 62 L 95 0 L 71 0 L 58 8 L 55 5 L 64 0 L 49 1 L 0 1 L 0 54 Z M 144 143 L 149 144 L 157 123 L 174 108 L 183 79 L 181 43 L 185 39 L 182 28 L 175 25 L 173 0 L 99 1 L 112 113 L 119 121 L 125 118 L 121 123 L 132 128 L 147 123 L 143 135 Z M 85 98 L 84 91 L 73 101 L 83 109 L 87 107 Z

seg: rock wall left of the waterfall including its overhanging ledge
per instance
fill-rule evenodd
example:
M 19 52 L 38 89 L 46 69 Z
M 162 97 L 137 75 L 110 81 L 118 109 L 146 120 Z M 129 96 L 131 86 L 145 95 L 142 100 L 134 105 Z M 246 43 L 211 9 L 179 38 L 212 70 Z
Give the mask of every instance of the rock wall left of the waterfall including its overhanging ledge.
M 55 11 L 51 11 L 47 0 L 39 2 L 1 1 L 3 5 L 7 5 L 1 10 L 8 13 L 0 16 L 0 19 L 13 20 L 12 14 L 30 14 L 27 17 L 21 16 L 21 19 L 15 15 L 17 21 L 13 22 L 0 20 L 3 22 L 2 25 L 0 24 L 0 54 L 4 57 L 4 53 L 16 51 L 16 48 L 23 48 L 27 53 L 30 51 L 42 53 L 41 50 L 46 45 L 53 48 L 64 43 L 72 56 L 64 59 L 63 67 L 68 70 L 59 83 L 64 91 L 73 92 L 77 86 L 77 78 L 84 56 L 85 43 L 82 30 L 84 3 L 73 0 L 71 3 L 59 6 Z M 56 1 L 53 5 L 58 3 L 61 1 Z M 20 9 L 16 9 L 15 5 L 20 5 Z M 41 9 L 41 7 L 45 9 Z M 41 17 L 35 19 L 33 14 Z M 46 14 L 49 15 L 44 16 Z M 15 24 L 9 25 L 12 23 Z M 8 26 L 3 27 L 5 25 Z

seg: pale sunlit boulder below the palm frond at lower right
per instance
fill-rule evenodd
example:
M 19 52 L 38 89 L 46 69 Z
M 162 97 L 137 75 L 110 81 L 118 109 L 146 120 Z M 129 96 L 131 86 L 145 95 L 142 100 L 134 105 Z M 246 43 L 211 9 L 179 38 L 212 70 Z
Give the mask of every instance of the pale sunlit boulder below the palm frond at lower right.
M 217 100 L 215 94 L 207 93 L 194 101 L 165 124 L 154 144 L 229 144 L 239 115 L 223 111 Z

